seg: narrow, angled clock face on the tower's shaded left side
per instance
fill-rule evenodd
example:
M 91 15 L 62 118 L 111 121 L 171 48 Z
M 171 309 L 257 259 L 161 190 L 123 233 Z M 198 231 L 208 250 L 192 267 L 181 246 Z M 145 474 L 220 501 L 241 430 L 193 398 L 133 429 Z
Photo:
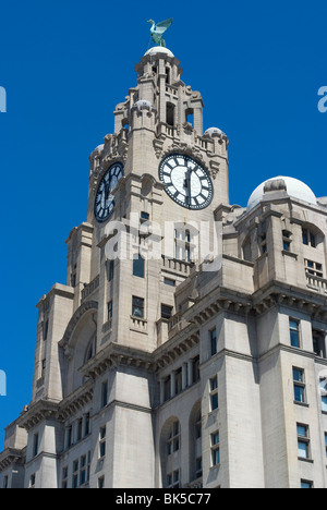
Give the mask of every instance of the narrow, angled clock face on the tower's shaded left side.
M 101 179 L 94 204 L 94 214 L 99 222 L 106 221 L 112 215 L 114 207 L 112 192 L 122 177 L 123 166 L 121 162 L 116 162 Z

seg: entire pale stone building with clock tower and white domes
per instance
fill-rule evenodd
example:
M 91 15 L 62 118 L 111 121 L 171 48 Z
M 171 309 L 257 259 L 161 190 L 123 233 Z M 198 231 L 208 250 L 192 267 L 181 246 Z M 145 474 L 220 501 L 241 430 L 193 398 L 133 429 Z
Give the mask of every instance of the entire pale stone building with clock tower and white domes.
M 228 138 L 179 60 L 136 72 L 38 303 L 1 486 L 326 487 L 327 198 L 278 177 L 231 206 Z

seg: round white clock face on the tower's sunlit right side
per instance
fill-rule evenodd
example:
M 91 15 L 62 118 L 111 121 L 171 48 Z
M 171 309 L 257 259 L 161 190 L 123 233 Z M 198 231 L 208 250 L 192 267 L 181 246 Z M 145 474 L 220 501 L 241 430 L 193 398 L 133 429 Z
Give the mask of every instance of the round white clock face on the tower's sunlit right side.
M 214 186 L 208 171 L 185 154 L 171 154 L 159 166 L 166 193 L 187 209 L 204 209 L 213 201 Z

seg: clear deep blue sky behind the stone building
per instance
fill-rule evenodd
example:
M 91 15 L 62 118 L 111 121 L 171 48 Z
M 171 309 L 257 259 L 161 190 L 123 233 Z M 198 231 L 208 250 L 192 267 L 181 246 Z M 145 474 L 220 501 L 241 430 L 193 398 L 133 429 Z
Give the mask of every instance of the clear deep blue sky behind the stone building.
M 11 0 L 1 5 L 3 427 L 31 400 L 35 305 L 65 282 L 64 240 L 86 219 L 88 155 L 113 130 L 149 47 L 146 20 L 173 17 L 167 46 L 201 90 L 205 129 L 230 138 L 230 199 L 287 174 L 327 195 L 327 2 Z

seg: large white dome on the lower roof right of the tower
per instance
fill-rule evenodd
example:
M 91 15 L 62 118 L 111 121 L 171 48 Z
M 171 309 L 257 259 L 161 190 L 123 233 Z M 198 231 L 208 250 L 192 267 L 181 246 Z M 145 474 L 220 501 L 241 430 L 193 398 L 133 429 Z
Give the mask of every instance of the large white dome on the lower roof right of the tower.
M 268 179 L 254 190 L 247 203 L 247 210 L 259 204 L 265 198 L 266 193 L 282 191 L 293 198 L 308 204 L 317 204 L 315 194 L 304 182 L 289 177 L 276 177 Z

